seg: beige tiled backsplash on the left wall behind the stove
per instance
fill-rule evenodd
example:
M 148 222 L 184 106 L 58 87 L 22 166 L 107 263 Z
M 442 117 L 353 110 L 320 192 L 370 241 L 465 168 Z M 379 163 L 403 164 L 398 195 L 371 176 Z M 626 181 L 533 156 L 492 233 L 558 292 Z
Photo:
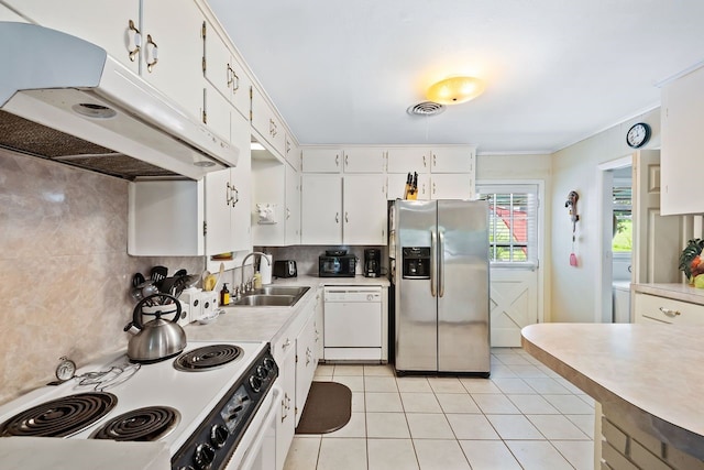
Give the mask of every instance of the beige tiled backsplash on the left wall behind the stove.
M 0 403 L 125 348 L 134 272 L 204 270 L 202 258 L 127 253 L 128 183 L 0 150 Z

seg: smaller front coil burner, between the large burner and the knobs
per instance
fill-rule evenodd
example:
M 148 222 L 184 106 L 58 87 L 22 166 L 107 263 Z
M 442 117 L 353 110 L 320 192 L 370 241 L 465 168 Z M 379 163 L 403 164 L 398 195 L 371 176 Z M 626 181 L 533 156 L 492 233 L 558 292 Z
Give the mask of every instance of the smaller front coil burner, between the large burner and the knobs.
M 92 439 L 153 441 L 167 436 L 180 422 L 170 406 L 146 406 L 116 416 L 96 430 Z

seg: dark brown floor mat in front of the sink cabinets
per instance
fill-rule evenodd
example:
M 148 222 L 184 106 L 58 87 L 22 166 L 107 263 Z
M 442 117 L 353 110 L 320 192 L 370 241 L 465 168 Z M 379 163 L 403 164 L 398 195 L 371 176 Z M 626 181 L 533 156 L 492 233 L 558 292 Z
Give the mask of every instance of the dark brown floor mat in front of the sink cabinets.
M 337 382 L 314 382 L 296 434 L 326 434 L 348 424 L 352 414 L 352 392 Z

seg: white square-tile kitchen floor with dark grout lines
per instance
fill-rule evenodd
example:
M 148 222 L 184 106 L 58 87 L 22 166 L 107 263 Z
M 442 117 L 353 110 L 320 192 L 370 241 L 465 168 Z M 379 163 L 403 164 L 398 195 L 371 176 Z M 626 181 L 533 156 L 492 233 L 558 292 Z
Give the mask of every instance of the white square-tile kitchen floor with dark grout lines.
M 592 470 L 594 402 L 521 349 L 492 349 L 492 378 L 396 378 L 324 365 L 352 390 L 342 429 L 296 436 L 286 470 Z

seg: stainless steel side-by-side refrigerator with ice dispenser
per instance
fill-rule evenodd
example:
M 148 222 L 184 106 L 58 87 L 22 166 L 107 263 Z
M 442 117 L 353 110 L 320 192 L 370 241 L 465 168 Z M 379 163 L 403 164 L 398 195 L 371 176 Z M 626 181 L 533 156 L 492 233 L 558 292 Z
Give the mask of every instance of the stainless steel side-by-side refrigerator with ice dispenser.
M 487 201 L 399 199 L 389 217 L 396 371 L 488 376 Z

